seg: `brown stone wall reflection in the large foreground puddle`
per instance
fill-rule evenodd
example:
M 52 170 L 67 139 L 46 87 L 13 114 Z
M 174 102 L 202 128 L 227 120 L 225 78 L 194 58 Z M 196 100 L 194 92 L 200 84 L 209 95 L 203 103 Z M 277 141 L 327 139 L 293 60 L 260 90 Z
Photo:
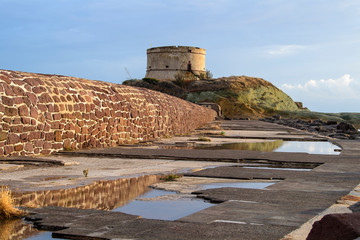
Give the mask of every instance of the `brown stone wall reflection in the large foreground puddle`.
M 145 175 L 61 190 L 14 193 L 15 203 L 25 207 L 58 206 L 68 208 L 112 210 L 144 194 L 160 181 L 159 175 Z

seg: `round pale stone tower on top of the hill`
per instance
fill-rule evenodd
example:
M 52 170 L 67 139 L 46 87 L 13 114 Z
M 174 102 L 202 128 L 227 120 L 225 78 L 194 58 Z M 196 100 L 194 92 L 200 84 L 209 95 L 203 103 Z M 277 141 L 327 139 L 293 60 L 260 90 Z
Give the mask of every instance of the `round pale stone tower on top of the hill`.
M 205 49 L 198 47 L 149 48 L 145 77 L 175 80 L 176 74 L 182 74 L 185 80 L 199 79 L 200 74 L 205 74 L 205 54 Z

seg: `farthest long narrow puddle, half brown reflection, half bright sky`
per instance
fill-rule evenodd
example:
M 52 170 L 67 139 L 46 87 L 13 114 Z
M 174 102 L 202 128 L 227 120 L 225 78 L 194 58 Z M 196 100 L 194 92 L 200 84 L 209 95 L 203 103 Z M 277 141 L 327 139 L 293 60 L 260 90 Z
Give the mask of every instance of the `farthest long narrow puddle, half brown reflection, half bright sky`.
M 308 141 L 267 141 L 267 142 L 242 142 L 224 143 L 218 145 L 203 144 L 197 145 L 195 149 L 209 150 L 249 150 L 262 152 L 304 152 L 310 154 L 332 154 L 338 155 L 341 150 L 338 146 L 330 142 L 308 142 Z

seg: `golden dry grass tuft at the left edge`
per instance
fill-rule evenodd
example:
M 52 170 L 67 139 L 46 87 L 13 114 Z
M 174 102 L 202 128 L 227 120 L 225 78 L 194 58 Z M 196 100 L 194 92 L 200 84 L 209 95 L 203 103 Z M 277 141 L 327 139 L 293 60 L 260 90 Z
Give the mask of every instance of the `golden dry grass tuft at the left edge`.
M 0 219 L 19 218 L 24 214 L 24 211 L 15 208 L 11 190 L 8 187 L 2 186 L 0 190 Z

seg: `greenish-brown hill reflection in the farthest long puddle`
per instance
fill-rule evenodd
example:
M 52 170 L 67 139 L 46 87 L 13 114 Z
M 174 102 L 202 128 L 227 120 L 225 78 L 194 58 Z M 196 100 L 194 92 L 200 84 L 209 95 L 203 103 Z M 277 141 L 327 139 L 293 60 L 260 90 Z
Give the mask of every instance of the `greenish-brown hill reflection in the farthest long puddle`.
M 268 142 L 241 142 L 241 143 L 224 143 L 220 145 L 200 145 L 195 149 L 231 149 L 231 150 L 250 150 L 250 151 L 262 151 L 271 152 L 283 145 L 283 140 L 268 141 Z

